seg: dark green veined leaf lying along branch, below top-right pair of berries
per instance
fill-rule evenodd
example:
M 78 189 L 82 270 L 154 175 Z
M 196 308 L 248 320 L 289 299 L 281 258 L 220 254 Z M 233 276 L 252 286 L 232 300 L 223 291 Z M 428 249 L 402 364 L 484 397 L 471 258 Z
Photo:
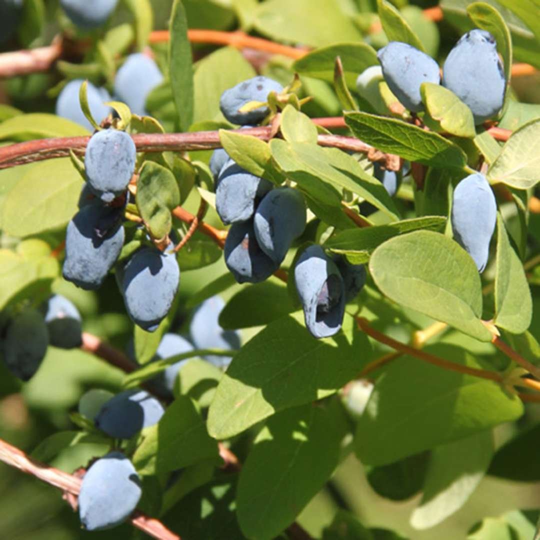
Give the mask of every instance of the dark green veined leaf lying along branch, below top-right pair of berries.
M 462 169 L 467 164 L 467 156 L 460 147 L 438 133 L 402 120 L 366 112 L 348 112 L 345 113 L 345 121 L 355 137 L 383 152 L 433 167 Z

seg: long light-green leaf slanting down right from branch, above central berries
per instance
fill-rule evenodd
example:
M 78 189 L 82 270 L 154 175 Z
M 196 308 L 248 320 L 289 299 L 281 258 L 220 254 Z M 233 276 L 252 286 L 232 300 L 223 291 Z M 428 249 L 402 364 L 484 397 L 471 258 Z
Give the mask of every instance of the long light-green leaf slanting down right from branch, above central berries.
M 272 156 L 289 178 L 323 204 L 339 205 L 336 188 L 360 195 L 392 220 L 398 219 L 393 200 L 379 180 L 365 172 L 349 154 L 308 143 L 270 142 Z

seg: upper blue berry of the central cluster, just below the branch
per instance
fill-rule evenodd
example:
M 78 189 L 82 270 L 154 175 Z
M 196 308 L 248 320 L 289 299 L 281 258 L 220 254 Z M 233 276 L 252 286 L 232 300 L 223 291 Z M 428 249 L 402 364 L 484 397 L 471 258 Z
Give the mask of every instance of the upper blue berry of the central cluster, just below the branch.
M 218 177 L 215 210 L 225 225 L 247 221 L 271 189 L 271 182 L 247 172 L 231 159 Z

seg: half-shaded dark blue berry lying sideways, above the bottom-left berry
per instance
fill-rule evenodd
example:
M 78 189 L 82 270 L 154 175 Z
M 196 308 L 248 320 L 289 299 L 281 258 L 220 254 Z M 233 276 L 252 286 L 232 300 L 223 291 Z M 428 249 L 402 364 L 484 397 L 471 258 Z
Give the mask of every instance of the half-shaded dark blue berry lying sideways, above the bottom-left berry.
M 96 427 L 107 435 L 131 438 L 153 426 L 163 416 L 161 403 L 144 390 L 125 390 L 105 402 L 96 416 Z

